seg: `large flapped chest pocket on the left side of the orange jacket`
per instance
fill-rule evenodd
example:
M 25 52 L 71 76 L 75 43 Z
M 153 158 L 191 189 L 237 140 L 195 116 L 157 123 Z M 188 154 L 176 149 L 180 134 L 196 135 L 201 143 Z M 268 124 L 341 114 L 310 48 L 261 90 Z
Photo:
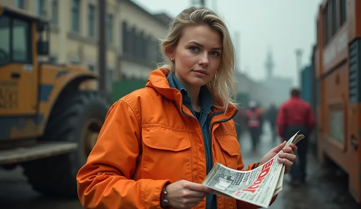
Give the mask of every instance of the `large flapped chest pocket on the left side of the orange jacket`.
M 154 180 L 191 180 L 189 132 L 164 127 L 142 128 L 141 176 Z

